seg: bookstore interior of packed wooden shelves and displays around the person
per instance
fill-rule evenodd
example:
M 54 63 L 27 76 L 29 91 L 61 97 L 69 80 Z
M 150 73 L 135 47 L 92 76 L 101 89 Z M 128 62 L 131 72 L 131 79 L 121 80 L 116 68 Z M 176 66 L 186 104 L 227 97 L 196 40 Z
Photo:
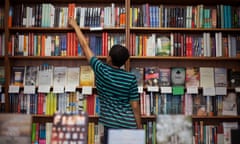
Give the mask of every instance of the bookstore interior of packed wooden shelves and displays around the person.
M 101 144 L 94 54 L 128 48 L 142 129 L 109 144 L 239 144 L 240 0 L 1 0 L 0 143 Z

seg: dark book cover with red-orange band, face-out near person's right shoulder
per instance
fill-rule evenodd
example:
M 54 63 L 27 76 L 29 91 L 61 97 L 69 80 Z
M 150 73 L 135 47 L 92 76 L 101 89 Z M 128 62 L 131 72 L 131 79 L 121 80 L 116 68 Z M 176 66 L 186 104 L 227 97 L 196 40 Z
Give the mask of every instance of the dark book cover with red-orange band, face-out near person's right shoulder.
M 144 85 L 159 86 L 159 68 L 158 67 L 144 68 Z

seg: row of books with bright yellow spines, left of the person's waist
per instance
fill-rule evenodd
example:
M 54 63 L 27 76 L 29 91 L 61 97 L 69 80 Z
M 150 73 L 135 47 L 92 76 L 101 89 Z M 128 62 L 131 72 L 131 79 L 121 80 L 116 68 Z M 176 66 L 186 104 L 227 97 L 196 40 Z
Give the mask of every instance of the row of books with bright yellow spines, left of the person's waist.
M 24 94 L 23 91 L 9 94 L 10 112 L 25 114 L 53 115 L 56 112 L 77 114 L 86 111 L 88 115 L 99 115 L 99 99 L 95 94 L 77 92 L 55 94 Z

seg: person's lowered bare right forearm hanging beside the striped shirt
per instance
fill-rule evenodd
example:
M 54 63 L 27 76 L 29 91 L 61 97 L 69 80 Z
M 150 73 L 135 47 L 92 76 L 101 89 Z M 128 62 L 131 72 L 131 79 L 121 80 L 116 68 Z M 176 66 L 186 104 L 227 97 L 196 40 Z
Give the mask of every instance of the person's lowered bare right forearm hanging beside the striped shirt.
M 141 111 L 140 111 L 140 104 L 138 101 L 131 102 L 131 106 L 133 109 L 134 117 L 136 119 L 137 128 L 142 128 L 142 120 L 141 120 Z

